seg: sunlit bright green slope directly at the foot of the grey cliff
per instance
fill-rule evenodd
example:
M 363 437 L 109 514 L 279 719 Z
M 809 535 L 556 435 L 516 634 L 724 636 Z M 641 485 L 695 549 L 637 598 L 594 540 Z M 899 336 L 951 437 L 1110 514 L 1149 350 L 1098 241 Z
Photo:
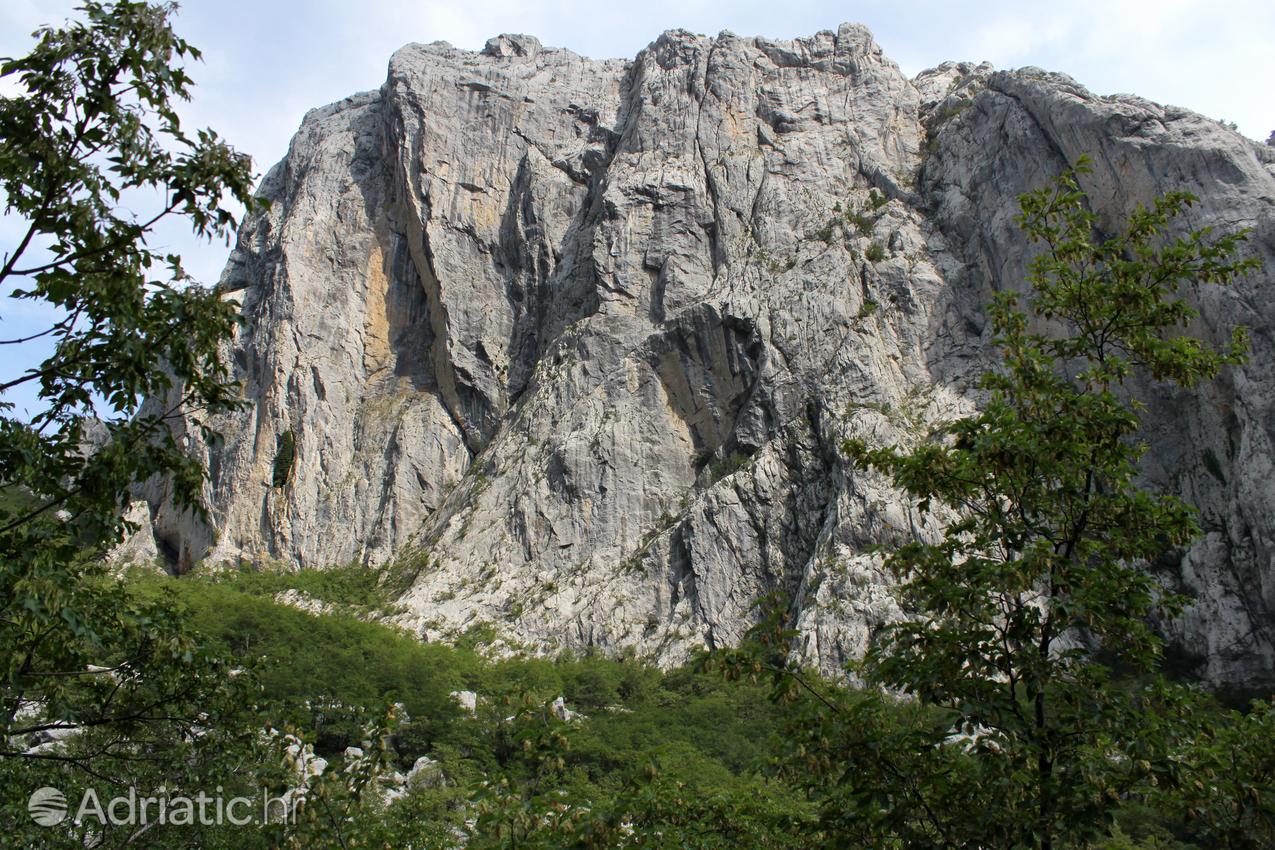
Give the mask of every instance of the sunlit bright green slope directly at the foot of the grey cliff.
M 571 762 L 590 782 L 622 781 L 653 761 L 674 775 L 724 782 L 764 767 L 780 723 L 762 688 L 715 674 L 662 673 L 601 656 L 491 661 L 473 649 L 422 644 L 354 616 L 354 607 L 384 601 L 375 576 L 361 570 L 135 580 L 148 593 L 172 594 L 210 649 L 255 672 L 272 723 L 312 729 L 329 754 L 358 743 L 368 712 L 400 701 L 413 719 L 399 740 L 404 766 L 419 754 L 459 752 L 481 767 L 491 757 L 474 740 L 482 730 L 450 693 L 527 693 L 539 701 L 562 696 L 588 717 Z M 314 616 L 275 603 L 287 587 L 347 613 Z

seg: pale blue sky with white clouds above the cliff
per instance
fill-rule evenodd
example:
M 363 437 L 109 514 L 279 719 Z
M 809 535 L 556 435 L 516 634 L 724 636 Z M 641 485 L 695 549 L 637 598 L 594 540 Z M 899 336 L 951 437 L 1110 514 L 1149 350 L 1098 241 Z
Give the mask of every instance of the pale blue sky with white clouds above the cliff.
M 61 23 L 75 5 L 0 3 L 0 56 L 24 54 L 32 31 Z M 666 29 L 790 38 L 845 20 L 867 24 L 909 75 L 945 60 L 1037 65 L 1098 94 L 1131 92 L 1233 121 L 1257 140 L 1275 130 L 1271 0 L 186 0 L 173 29 L 204 52 L 187 69 L 195 88 L 184 124 L 215 129 L 264 173 L 307 110 L 377 88 L 390 54 L 408 42 L 478 50 L 492 36 L 521 32 L 585 56 L 631 59 Z M 11 93 L 3 80 L 0 93 Z M 0 219 L 0 251 L 15 229 Z M 161 237 L 198 279 L 217 280 L 226 245 L 180 229 Z M 40 317 L 0 301 L 0 336 Z M 6 354 L 0 375 L 36 357 Z

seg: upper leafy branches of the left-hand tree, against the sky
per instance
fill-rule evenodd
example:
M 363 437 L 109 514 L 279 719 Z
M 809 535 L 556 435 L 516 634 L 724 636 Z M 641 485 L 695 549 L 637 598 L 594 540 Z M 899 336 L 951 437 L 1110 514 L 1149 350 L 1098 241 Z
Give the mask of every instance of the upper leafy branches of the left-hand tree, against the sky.
M 199 52 L 172 33 L 167 8 L 87 3 L 83 13 L 85 23 L 41 31 L 31 54 L 0 64 L 18 90 L 0 98 L 0 186 L 26 226 L 0 284 L 62 316 L 41 334 L 54 353 L 0 385 L 3 394 L 34 382 L 46 405 L 28 423 L 0 403 L 0 480 L 40 501 L 0 516 L 6 552 L 27 548 L 14 534 L 55 510 L 92 540 L 113 537 L 126 486 L 157 473 L 198 506 L 203 470 L 168 421 L 178 403 L 213 413 L 235 398 L 218 358 L 235 306 L 145 237 L 171 217 L 201 236 L 228 233 L 223 196 L 258 205 L 250 162 L 213 131 L 190 138 L 181 127 L 172 102 L 189 97 L 190 79 L 175 61 Z M 149 190 L 162 192 L 158 209 L 127 212 Z M 110 438 L 85 454 L 94 398 L 112 414 Z M 166 401 L 143 408 L 145 398 Z

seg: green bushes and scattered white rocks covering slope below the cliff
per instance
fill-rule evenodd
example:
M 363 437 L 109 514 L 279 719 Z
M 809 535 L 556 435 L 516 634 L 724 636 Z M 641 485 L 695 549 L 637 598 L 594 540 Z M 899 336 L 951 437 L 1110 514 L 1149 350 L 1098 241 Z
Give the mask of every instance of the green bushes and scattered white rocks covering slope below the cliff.
M 697 847 L 807 846 L 792 825 L 810 819 L 808 804 L 760 775 L 783 714 L 760 687 L 592 654 L 488 661 L 273 601 L 273 582 L 296 575 L 135 581 L 148 598 L 173 598 L 212 650 L 251 672 L 263 721 L 305 729 L 326 758 L 368 739 L 377 720 L 370 707 L 402 703 L 384 770 L 428 756 L 441 784 L 393 804 L 325 785 L 346 840 L 445 847 L 453 830 L 467 830 L 474 847 L 668 846 L 658 835 L 673 833 Z M 458 689 L 479 695 L 476 714 L 451 698 Z M 579 719 L 555 715 L 550 703 L 560 696 Z M 287 840 L 338 846 L 323 807 L 310 812 Z M 649 827 L 623 831 L 635 823 Z

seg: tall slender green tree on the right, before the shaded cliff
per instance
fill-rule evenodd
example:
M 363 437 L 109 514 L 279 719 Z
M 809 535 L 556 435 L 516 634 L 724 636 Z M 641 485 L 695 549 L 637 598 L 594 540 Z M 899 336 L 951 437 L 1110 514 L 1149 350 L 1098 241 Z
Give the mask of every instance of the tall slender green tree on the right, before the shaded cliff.
M 1187 505 L 1137 483 L 1146 446 L 1131 378 L 1190 387 L 1242 362 L 1242 329 L 1223 345 L 1186 333 L 1196 312 L 1182 289 L 1256 261 L 1237 259 L 1243 233 L 1167 237 L 1193 203 L 1181 192 L 1095 237 L 1085 169 L 1021 198 L 1020 224 L 1042 250 L 1026 308 L 1014 293 L 992 303 L 1002 362 L 982 377 L 982 410 L 913 449 L 845 445 L 938 528 L 889 554 L 912 617 L 861 670 L 924 711 L 859 740 L 886 754 L 854 756 L 863 772 L 841 800 L 903 846 L 1085 846 L 1122 796 L 1177 781 L 1170 749 L 1190 695 L 1117 683 L 1099 663 L 1155 669 L 1150 622 L 1183 600 L 1142 567 L 1197 534 Z M 882 728 L 871 702 L 854 711 Z

